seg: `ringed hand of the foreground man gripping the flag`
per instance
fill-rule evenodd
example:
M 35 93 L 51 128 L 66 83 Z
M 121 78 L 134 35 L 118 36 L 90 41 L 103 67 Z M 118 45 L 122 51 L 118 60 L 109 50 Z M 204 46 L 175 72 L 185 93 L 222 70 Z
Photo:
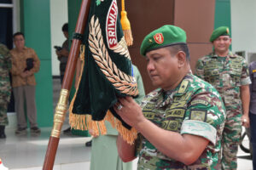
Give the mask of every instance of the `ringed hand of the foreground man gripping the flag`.
M 139 122 L 145 120 L 140 105 L 138 105 L 131 96 L 119 98 L 119 101 L 113 106 L 113 109 L 131 127 L 136 127 Z

